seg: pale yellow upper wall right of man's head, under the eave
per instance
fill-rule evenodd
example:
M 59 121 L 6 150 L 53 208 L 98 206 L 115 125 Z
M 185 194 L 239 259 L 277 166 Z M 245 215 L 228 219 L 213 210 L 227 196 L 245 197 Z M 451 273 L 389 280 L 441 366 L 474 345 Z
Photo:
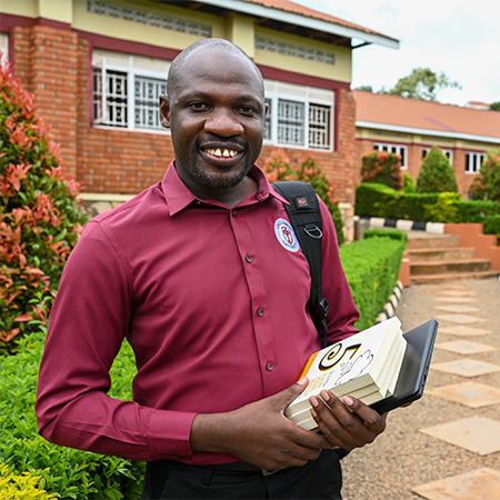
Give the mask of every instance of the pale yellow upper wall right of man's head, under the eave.
M 292 56 L 283 56 L 269 50 L 256 50 L 254 61 L 259 64 L 271 66 L 288 71 L 300 72 L 313 77 L 321 77 L 331 80 L 338 80 L 350 83 L 352 81 L 351 49 L 332 46 L 330 43 L 309 40 L 294 34 L 281 33 L 280 31 L 267 28 L 256 28 L 256 36 L 268 38 L 278 42 L 290 43 L 294 46 L 308 47 L 316 50 L 332 53 L 336 58 L 334 64 L 309 61 Z

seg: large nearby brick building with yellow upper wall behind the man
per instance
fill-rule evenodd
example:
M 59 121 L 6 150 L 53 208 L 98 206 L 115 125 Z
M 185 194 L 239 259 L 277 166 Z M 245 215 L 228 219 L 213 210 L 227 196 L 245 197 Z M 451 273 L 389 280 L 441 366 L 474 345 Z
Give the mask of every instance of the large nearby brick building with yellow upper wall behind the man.
M 354 201 L 352 38 L 398 41 L 287 0 L 2 0 L 0 42 L 52 124 L 84 198 L 123 199 L 160 180 L 173 157 L 158 121 L 170 61 L 227 38 L 253 58 L 270 104 L 260 163 L 276 149 L 313 157 L 346 207 Z

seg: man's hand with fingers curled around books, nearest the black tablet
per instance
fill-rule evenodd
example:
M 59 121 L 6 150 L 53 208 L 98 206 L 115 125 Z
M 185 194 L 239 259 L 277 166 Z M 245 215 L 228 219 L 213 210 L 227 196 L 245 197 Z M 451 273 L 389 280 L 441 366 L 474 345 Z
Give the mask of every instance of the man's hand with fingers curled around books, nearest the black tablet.
M 312 417 L 323 436 L 334 447 L 352 450 L 373 442 L 386 430 L 387 413 L 379 414 L 356 398 L 347 396 L 343 402 L 330 391 L 312 396 Z M 351 411 L 349 411 L 349 407 Z

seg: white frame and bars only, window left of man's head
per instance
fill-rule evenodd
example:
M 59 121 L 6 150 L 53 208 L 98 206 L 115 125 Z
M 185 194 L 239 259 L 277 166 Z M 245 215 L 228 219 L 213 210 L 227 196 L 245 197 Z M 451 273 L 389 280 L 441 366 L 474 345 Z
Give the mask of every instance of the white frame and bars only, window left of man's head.
M 163 86 L 163 92 L 167 90 L 167 74 L 170 68 L 170 61 L 140 56 L 130 56 L 104 50 L 94 50 L 92 52 L 92 122 L 94 127 L 107 129 L 133 130 L 141 132 L 169 133 L 161 127 L 159 121 L 159 101 L 156 99 L 156 124 L 152 127 L 141 127 L 136 123 L 136 79 L 146 78 L 156 80 Z M 100 76 L 96 77 L 97 70 Z M 127 80 L 126 112 L 127 120 L 123 126 L 113 123 L 109 118 L 109 100 L 107 97 L 107 81 L 109 72 L 119 72 L 124 74 Z M 100 113 L 96 112 L 97 86 L 94 79 L 100 80 Z M 158 89 L 156 89 L 158 90 Z M 156 91 L 156 93 L 158 93 Z

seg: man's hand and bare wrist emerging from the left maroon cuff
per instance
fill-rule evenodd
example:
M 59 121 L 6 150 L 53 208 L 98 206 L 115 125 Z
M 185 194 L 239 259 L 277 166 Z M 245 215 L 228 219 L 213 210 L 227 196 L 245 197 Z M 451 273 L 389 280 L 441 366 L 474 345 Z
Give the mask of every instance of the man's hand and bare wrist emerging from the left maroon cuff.
M 334 446 L 326 437 L 291 422 L 283 413 L 307 383 L 302 379 L 278 394 L 234 411 L 198 414 L 191 428 L 191 449 L 231 453 L 267 470 L 300 467 L 316 460 L 323 448 Z

